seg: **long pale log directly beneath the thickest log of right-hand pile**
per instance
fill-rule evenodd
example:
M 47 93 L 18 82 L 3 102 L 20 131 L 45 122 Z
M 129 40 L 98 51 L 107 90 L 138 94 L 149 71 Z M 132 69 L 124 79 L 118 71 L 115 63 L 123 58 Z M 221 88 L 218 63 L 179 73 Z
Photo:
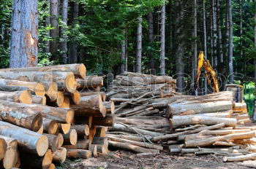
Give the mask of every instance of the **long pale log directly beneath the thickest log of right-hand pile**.
M 176 128 L 188 125 L 217 125 L 224 123 L 225 127 L 236 127 L 237 120 L 232 118 L 203 117 L 197 115 L 176 116 L 170 119 L 170 128 Z

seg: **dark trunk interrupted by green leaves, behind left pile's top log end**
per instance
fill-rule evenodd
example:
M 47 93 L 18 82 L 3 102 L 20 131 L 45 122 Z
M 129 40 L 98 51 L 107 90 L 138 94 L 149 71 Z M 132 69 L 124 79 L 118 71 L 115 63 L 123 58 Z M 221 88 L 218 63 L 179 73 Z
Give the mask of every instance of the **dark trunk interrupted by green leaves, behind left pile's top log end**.
M 76 24 L 78 24 L 79 4 L 78 1 L 74 1 L 73 3 L 72 20 L 73 25 L 75 26 Z M 69 63 L 78 63 L 78 44 L 75 42 L 72 42 L 72 44 L 70 44 Z

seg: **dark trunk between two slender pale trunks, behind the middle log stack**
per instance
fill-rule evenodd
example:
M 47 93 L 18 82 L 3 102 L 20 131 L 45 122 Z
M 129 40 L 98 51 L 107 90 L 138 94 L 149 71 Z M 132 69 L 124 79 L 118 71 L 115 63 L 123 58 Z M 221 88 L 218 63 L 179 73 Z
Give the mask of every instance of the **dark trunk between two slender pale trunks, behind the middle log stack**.
M 148 42 L 150 45 L 153 45 L 154 43 L 154 23 L 153 23 L 153 12 L 148 13 Z M 151 72 L 154 71 L 154 56 L 152 55 L 152 52 L 148 52 L 148 58 L 149 58 L 149 65 Z

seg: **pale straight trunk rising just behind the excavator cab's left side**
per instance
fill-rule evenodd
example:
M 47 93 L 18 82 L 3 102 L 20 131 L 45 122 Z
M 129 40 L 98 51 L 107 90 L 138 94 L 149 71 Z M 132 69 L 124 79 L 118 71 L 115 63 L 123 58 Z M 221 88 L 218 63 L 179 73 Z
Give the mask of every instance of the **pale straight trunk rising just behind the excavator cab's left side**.
M 228 16 L 229 16 L 229 57 L 228 57 L 228 64 L 229 64 L 229 82 L 234 82 L 234 76 L 233 76 L 233 21 L 232 21 L 232 6 L 231 6 L 231 0 L 228 1 Z

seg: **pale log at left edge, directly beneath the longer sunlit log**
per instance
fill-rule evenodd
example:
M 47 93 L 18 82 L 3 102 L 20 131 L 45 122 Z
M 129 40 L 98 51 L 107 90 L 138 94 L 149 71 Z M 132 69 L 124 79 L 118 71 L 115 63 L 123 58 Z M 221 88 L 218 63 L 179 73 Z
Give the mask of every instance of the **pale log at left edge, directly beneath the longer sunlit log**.
M 29 91 L 4 92 L 0 91 L 0 100 L 11 101 L 15 103 L 32 103 L 32 95 Z

